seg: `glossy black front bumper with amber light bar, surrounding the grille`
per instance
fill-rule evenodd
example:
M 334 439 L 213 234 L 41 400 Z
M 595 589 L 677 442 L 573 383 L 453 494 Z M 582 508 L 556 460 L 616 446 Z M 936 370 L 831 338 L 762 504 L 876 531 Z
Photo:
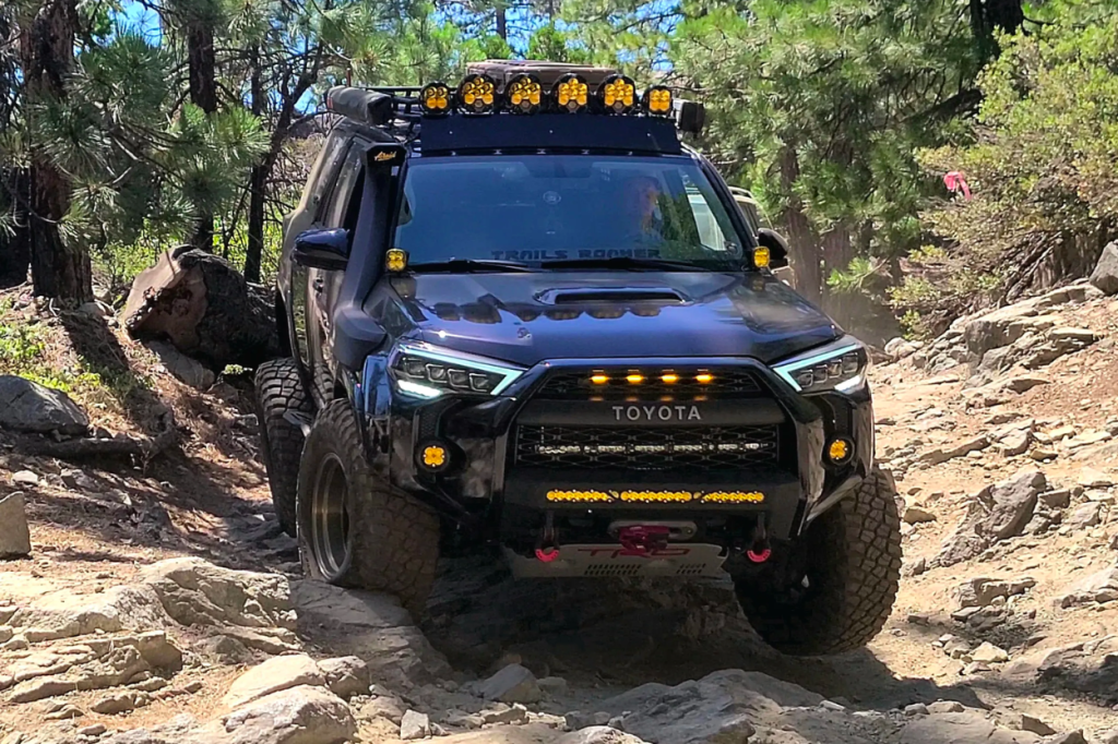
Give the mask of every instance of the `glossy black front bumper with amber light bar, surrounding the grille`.
M 724 406 L 720 410 L 717 401 L 708 404 L 708 410 L 713 411 L 711 416 L 722 416 L 720 426 L 751 425 L 760 420 L 757 417 L 768 417 L 765 420 L 771 423 L 775 411 L 779 423 L 771 426 L 780 428 L 783 442 L 779 458 L 756 466 L 691 468 L 686 473 L 629 467 L 532 467 L 518 461 L 519 426 L 541 421 L 570 425 L 580 416 L 578 406 L 548 404 L 541 410 L 533 394 L 549 375 L 603 365 L 631 368 L 669 362 L 675 366 L 737 368 L 755 375 L 762 394 L 749 410 L 740 406 L 737 409 Z M 536 365 L 500 397 L 435 400 L 399 393 L 391 385 L 387 369 L 387 360 L 368 364 L 360 387 L 359 403 L 364 409 L 370 441 L 376 442 L 373 464 L 397 487 L 426 499 L 448 516 L 468 515 L 473 524 L 498 533 L 520 530 L 543 512 L 593 513 L 605 518 L 639 515 L 694 519 L 756 518 L 764 514 L 769 535 L 788 538 L 818 516 L 823 507 L 828 507 L 833 495 L 849 489 L 872 467 L 873 412 L 868 385 L 842 393 L 805 395 L 752 359 L 557 360 Z M 691 422 L 653 423 L 648 430 L 659 431 L 657 437 L 663 439 L 664 431 L 684 431 Z M 676 426 L 680 428 L 673 429 Z M 827 443 L 837 436 L 855 446 L 853 457 L 842 466 L 825 459 Z M 430 441 L 448 446 L 451 468 L 430 473 L 420 465 L 417 451 Z M 596 500 L 557 500 L 556 493 L 594 494 Z M 634 494 L 648 497 L 633 497 Z M 708 498 L 711 494 L 723 497 Z M 726 498 L 727 494 L 735 498 Z

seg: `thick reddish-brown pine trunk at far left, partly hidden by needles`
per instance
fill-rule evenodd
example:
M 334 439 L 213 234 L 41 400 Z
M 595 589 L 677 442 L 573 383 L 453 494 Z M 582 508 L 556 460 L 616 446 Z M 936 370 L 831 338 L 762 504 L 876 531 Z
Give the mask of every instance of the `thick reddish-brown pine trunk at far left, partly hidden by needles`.
M 45 0 L 25 23 L 20 39 L 28 117 L 38 104 L 66 98 L 65 79 L 74 61 L 77 28 L 75 0 Z M 69 210 L 73 184 L 40 147 L 31 150 L 29 219 L 31 277 L 35 294 L 44 297 L 93 299 L 89 255 L 68 246 L 58 229 Z

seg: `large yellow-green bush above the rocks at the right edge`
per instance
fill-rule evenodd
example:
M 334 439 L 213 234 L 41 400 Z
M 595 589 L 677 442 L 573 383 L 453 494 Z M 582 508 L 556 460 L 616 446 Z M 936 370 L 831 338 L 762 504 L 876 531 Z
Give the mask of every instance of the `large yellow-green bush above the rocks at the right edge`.
M 923 213 L 947 249 L 932 297 L 904 292 L 901 312 L 946 315 L 1013 299 L 1041 278 L 1082 276 L 1118 226 L 1118 17 L 1078 22 L 1083 6 L 1041 32 L 1001 40 L 983 73 L 972 143 L 923 150 L 930 172 L 961 171 L 974 198 Z M 1051 9 L 1050 9 L 1051 10 Z M 1077 22 L 1067 22 L 1077 20 Z

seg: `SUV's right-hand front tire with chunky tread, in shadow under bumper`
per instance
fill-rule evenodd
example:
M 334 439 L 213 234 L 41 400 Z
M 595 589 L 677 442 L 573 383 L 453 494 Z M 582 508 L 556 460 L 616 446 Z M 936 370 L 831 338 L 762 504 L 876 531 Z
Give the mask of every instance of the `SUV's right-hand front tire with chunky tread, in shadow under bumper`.
M 892 480 L 874 469 L 812 523 L 790 549 L 806 551 L 806 591 L 793 595 L 767 574 L 735 580 L 741 609 L 766 642 L 794 656 L 823 656 L 861 648 L 881 631 L 901 573 L 896 496 Z

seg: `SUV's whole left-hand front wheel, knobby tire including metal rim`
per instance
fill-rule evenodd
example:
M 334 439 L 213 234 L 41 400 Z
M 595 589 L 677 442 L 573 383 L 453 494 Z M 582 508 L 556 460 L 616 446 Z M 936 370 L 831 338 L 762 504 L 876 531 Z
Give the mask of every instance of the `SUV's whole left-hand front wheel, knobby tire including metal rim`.
M 388 592 L 416 617 L 435 582 L 438 517 L 378 477 L 353 410 L 326 406 L 303 448 L 299 543 L 307 575 Z

